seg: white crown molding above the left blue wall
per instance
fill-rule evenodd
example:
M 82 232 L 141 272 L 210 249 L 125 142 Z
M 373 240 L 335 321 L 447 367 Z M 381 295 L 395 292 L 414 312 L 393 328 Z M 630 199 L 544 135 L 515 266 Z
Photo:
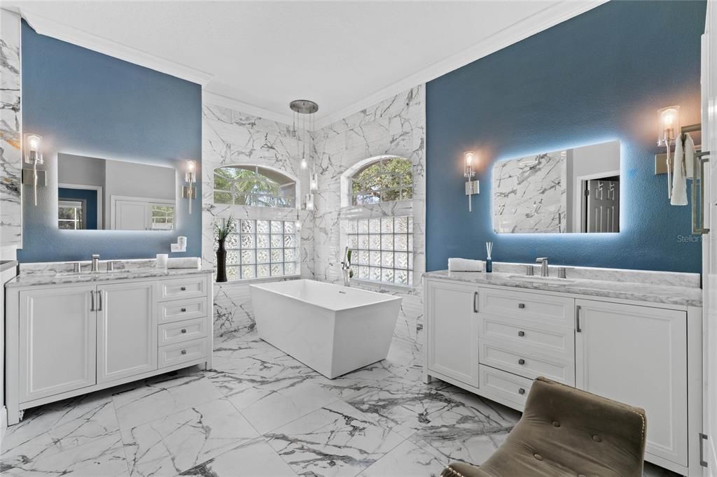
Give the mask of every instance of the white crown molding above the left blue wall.
M 106 54 L 110 57 L 123 59 L 126 62 L 138 64 L 146 68 L 155 69 L 158 72 L 171 74 L 171 76 L 202 86 L 206 85 L 209 80 L 212 80 L 212 74 L 188 67 L 185 64 L 156 57 L 153 54 L 128 47 L 125 44 L 113 42 L 112 40 L 98 37 L 97 35 L 84 32 L 72 26 L 57 23 L 57 21 L 47 19 L 42 15 L 38 15 L 24 8 L 20 8 L 19 12 L 22 18 L 32 26 L 35 32 L 45 35 L 46 37 L 76 44 L 77 46 L 91 49 L 92 51 Z

